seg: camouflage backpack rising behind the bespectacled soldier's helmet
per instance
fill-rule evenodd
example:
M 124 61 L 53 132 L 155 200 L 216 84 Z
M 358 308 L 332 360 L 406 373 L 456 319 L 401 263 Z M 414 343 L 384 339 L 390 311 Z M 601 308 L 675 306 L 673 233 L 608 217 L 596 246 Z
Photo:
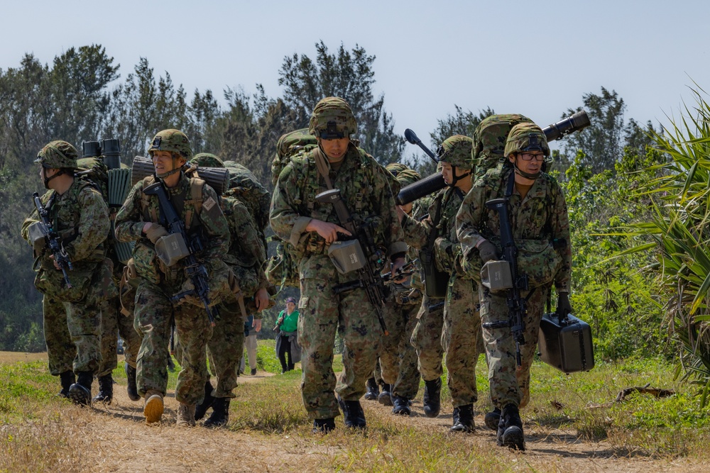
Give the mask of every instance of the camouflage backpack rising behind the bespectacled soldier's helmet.
M 532 123 L 532 120 L 518 113 L 506 113 L 488 116 L 476 126 L 472 156 L 475 166 L 474 182 L 490 169 L 502 170 L 508 166 L 509 161 L 504 154 L 508 133 L 513 126 L 526 122 Z

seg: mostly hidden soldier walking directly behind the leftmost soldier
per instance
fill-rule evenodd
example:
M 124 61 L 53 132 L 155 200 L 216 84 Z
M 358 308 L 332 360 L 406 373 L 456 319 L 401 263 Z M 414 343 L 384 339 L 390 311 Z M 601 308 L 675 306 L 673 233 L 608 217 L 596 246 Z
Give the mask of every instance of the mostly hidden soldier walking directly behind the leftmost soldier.
M 108 201 L 108 173 L 109 168 L 104 163 L 102 158 L 84 157 L 77 160 L 77 166 L 83 169 L 81 174 L 87 173 L 87 177 L 92 180 L 101 189 L 104 201 Z M 124 167 L 125 165 L 121 165 Z M 113 221 L 116 217 L 118 208 L 109 206 L 109 220 Z M 114 248 L 114 235 L 109 236 L 104 242 L 106 246 L 106 256 L 114 265 L 112 274 L 113 282 L 116 286 L 120 286 L 121 277 L 124 273 L 124 263 L 119 260 Z M 114 379 L 111 373 L 118 366 L 118 336 L 124 340 L 124 358 L 126 370 L 126 392 L 131 401 L 138 401 L 141 396 L 138 396 L 138 388 L 136 387 L 136 357 L 138 357 L 138 348 L 141 347 L 141 337 L 133 328 L 133 313 L 124 315 L 121 313 L 121 300 L 119 296 L 111 297 L 104 301 L 101 305 L 101 365 L 96 373 L 99 381 L 99 392 L 92 401 L 104 402 L 111 404 L 114 398 Z

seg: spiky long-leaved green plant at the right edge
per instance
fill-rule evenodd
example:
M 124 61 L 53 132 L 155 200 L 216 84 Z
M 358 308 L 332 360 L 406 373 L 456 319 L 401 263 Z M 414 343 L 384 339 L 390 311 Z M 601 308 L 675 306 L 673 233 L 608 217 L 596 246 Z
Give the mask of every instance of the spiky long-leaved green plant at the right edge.
M 710 104 L 702 89 L 694 90 L 696 105 L 684 107 L 663 133 L 652 133 L 654 148 L 667 162 L 647 168 L 657 172 L 640 187 L 649 195 L 652 213 L 630 226 L 630 233 L 652 239 L 664 301 L 665 322 L 682 343 L 680 362 L 684 377 L 702 389 L 701 405 L 710 390 L 710 247 L 707 234 L 710 183 Z

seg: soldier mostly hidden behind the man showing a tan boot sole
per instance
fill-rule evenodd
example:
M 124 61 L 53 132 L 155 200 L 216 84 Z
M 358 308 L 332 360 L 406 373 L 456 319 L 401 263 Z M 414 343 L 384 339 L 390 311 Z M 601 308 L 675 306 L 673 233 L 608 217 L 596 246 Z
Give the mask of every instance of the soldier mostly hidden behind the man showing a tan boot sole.
M 209 153 L 195 155 L 190 165 L 197 166 L 198 174 L 200 167 L 224 167 L 219 157 Z M 234 274 L 231 278 L 233 294 L 219 304 L 219 319 L 207 343 L 209 366 L 212 367 L 217 384 L 213 389 L 208 373 L 204 400 L 195 409 L 195 421 L 199 421 L 207 409 L 212 407 L 212 414 L 204 421 L 205 427 L 219 427 L 229 421 L 229 404 L 231 398 L 235 397 L 233 390 L 237 386 L 239 360 L 244 352 L 246 310 L 250 308 L 250 312 L 257 313 L 255 326 L 261 329 L 261 314 L 258 312 L 269 303 L 266 291 L 268 281 L 263 272 L 266 247 L 261 233 L 246 205 L 231 196 L 229 191 L 221 196 L 219 205 L 229 223 L 231 235 L 229 251 L 223 261 Z

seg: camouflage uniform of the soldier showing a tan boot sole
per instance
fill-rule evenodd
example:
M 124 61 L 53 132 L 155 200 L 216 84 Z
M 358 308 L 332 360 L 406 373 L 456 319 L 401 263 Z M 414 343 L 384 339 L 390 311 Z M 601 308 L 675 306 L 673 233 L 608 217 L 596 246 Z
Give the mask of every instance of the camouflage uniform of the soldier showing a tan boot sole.
M 210 302 L 217 304 L 230 294 L 227 286 L 229 268 L 222 262 L 229 247 L 229 226 L 217 205 L 217 194 L 204 182 L 201 190 L 202 211 L 197 212 L 197 202 L 190 199 L 193 179 L 181 173 L 178 185 L 168 189 L 168 195 L 182 221 L 190 226 L 188 232 L 202 232 L 204 250 L 197 257 L 209 274 Z M 182 404 L 194 405 L 204 396 L 207 379 L 205 350 L 212 337 L 212 327 L 199 300 L 190 297 L 179 304 L 170 301 L 170 297 L 189 288 L 191 283 L 185 273 L 184 262 L 165 267 L 156 257 L 153 243 L 142 231 L 146 222 L 160 222 L 157 196 L 143 194 L 143 188 L 153 181 L 153 177 L 146 177 L 133 186 L 116 215 L 116 239 L 136 240 L 133 260 L 139 282 L 134 326 L 143 336 L 137 362 L 138 392 L 141 396 L 147 391 L 165 395 L 170 323 L 174 318 L 175 335 L 185 353 L 178 385 L 175 386 L 175 399 Z

